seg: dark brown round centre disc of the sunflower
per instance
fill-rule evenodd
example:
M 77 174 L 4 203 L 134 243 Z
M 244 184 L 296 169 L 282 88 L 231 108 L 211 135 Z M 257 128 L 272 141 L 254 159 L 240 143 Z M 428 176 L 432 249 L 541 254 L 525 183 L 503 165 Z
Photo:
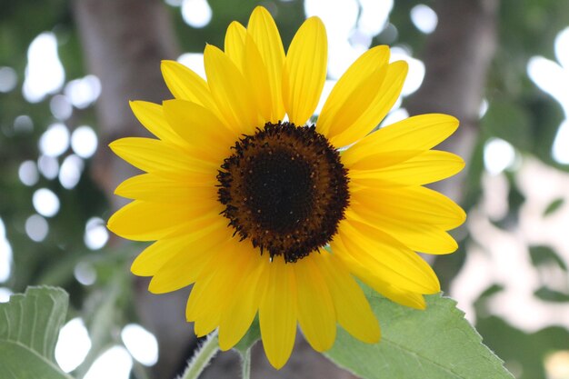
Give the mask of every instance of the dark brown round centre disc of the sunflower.
M 267 123 L 234 149 L 217 179 L 235 234 L 285 262 L 332 239 L 349 202 L 347 170 L 314 125 Z

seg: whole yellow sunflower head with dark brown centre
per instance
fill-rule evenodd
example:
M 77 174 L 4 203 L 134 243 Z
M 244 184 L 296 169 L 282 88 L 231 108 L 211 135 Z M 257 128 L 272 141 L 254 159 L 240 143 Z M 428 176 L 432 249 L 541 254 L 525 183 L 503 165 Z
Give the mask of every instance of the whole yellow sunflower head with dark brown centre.
M 198 336 L 218 329 L 232 348 L 258 314 L 265 354 L 288 360 L 297 324 L 312 347 L 336 324 L 366 342 L 378 322 L 356 278 L 418 309 L 439 292 L 415 252 L 452 253 L 464 222 L 453 201 L 423 185 L 463 160 L 431 150 L 454 133 L 449 115 L 418 115 L 374 131 L 398 98 L 407 65 L 389 48 L 361 55 L 314 114 L 326 77 L 324 25 L 308 18 L 286 55 L 263 7 L 227 28 L 225 51 L 205 46 L 207 81 L 162 64 L 175 99 L 131 103 L 157 138 L 110 145 L 145 174 L 115 193 L 133 199 L 108 221 L 115 234 L 153 241 L 132 265 L 162 294 L 194 284 L 186 318 Z

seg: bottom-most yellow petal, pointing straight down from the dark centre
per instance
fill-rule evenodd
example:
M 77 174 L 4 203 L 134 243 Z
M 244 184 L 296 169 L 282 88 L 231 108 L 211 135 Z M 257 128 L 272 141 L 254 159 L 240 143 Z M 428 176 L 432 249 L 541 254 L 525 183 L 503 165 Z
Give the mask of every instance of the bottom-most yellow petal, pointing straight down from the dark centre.
M 263 347 L 269 362 L 279 369 L 293 351 L 296 336 L 296 283 L 292 264 L 276 256 L 269 265 L 265 295 L 259 306 Z

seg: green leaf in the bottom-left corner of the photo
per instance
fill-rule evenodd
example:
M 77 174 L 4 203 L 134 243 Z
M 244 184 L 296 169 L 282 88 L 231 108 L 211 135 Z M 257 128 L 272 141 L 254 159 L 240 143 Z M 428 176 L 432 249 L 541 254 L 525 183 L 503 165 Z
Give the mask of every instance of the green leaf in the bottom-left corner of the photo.
M 55 363 L 68 295 L 54 287 L 28 287 L 0 304 L 0 378 L 70 379 Z

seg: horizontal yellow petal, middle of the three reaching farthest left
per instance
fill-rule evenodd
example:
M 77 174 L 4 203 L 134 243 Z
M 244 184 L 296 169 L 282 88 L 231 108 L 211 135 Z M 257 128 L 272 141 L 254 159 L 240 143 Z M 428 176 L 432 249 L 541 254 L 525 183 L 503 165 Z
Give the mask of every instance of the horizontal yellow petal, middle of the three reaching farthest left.
M 153 174 L 135 175 L 115 189 L 115 194 L 128 199 L 155 203 L 187 204 L 197 200 L 217 199 L 217 191 L 211 185 L 188 185 Z

